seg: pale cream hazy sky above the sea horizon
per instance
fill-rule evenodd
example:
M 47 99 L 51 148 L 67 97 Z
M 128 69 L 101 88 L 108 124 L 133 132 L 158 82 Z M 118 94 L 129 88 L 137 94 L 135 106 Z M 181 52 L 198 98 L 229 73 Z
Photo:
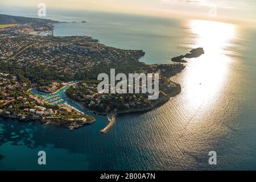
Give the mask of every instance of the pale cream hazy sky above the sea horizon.
M 255 0 L 8 0 L 0 6 L 84 9 L 118 13 L 256 23 Z

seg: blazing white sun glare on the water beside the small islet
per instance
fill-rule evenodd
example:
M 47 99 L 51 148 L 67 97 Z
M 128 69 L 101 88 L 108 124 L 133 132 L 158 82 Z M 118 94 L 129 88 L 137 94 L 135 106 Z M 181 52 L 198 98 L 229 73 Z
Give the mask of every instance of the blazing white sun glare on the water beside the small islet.
M 201 112 L 218 100 L 228 79 L 231 58 L 225 54 L 225 48 L 236 32 L 232 24 L 205 20 L 193 20 L 190 27 L 195 35 L 191 48 L 203 47 L 205 54 L 188 60 L 185 97 L 189 107 Z

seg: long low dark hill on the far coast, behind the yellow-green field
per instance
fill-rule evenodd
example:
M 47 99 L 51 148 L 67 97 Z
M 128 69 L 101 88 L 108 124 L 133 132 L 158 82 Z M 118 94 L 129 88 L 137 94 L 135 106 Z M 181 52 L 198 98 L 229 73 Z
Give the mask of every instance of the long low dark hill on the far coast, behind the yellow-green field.
M 22 23 L 59 23 L 50 19 L 27 18 L 23 16 L 11 16 L 0 14 L 0 24 L 22 24 Z

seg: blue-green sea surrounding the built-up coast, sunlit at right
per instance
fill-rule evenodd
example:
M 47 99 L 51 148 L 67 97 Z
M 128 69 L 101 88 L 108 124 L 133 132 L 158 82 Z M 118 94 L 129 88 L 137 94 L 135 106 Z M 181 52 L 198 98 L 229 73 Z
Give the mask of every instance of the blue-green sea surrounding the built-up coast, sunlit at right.
M 1 8 L 38 17 L 37 9 Z M 256 30 L 198 19 L 48 10 L 55 36 L 85 35 L 106 46 L 142 49 L 147 64 L 203 47 L 171 80 L 181 93 L 147 113 L 103 115 L 75 131 L 0 118 L 1 170 L 255 170 Z M 82 23 L 86 21 L 86 23 Z M 125 67 L 125 65 L 123 65 Z M 46 152 L 46 165 L 38 152 Z M 209 164 L 211 151 L 217 164 Z M 210 153 L 211 154 L 211 153 Z

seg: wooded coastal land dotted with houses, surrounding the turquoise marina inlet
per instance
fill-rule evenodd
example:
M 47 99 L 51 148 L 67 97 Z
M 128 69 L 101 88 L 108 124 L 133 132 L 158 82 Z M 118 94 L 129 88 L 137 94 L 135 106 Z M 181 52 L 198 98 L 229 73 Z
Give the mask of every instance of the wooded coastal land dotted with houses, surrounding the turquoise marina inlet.
M 18 24 L 0 30 L 1 117 L 39 120 L 71 130 L 93 123 L 92 116 L 64 105 L 49 104 L 29 91 L 34 88 L 52 94 L 74 81 L 66 91 L 68 98 L 86 110 L 105 115 L 148 111 L 181 91 L 181 86 L 170 77 L 181 72 L 183 64 L 147 65 L 139 61 L 144 56 L 142 50 L 108 47 L 89 36 L 42 36 L 41 32 L 53 31 L 53 23 L 58 23 L 51 20 L 15 16 L 5 23 Z M 98 93 L 97 76 L 110 69 L 126 75 L 159 73 L 159 98 L 148 100 L 148 94 Z

